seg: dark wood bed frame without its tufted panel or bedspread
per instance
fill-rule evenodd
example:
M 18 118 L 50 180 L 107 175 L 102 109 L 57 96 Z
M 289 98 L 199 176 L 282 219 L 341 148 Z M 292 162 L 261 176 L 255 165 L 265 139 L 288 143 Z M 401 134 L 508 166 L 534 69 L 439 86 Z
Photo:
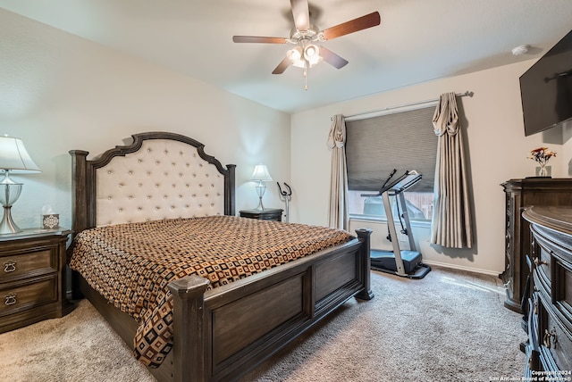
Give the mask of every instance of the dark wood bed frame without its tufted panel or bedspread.
M 224 213 L 235 214 L 234 165 L 225 169 L 205 154 L 204 145 L 178 134 L 150 132 L 132 138 L 132 144 L 116 146 L 95 160 L 88 160 L 86 151 L 70 152 L 74 232 L 96 226 L 97 170 L 136 152 L 148 139 L 195 147 L 200 158 L 223 174 Z M 369 229 L 357 229 L 357 238 L 349 243 L 212 290 L 198 276 L 173 281 L 168 285 L 174 304 L 173 349 L 159 368 L 149 370 L 159 381 L 236 380 L 349 298 L 373 298 L 370 235 Z M 86 296 L 132 346 L 137 321 L 106 302 L 78 273 L 73 272 L 72 280 L 76 296 Z

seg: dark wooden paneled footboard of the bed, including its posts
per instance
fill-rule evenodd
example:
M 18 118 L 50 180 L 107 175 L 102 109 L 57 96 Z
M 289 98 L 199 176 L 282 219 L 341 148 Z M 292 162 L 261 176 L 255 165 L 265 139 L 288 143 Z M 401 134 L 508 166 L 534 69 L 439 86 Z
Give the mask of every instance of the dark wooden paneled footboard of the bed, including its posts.
M 206 293 L 205 278 L 171 283 L 173 380 L 240 378 L 350 297 L 372 298 L 370 233 Z

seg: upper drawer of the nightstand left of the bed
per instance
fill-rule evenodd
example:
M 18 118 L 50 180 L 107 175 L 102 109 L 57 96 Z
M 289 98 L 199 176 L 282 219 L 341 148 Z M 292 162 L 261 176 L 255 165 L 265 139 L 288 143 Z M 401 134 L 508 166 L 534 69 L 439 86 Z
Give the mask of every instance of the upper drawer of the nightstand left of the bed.
M 57 270 L 56 265 L 51 248 L 2 256 L 0 257 L 0 281 L 38 274 L 41 270 Z

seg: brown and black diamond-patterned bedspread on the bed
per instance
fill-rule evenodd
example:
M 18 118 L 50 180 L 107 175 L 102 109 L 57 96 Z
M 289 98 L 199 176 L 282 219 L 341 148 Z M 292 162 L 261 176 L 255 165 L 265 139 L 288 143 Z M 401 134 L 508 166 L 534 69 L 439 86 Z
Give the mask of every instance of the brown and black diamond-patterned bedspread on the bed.
M 80 232 L 70 267 L 139 322 L 135 355 L 158 367 L 172 348 L 172 280 L 197 274 L 209 288 L 223 286 L 352 238 L 332 228 L 234 216 L 154 220 Z

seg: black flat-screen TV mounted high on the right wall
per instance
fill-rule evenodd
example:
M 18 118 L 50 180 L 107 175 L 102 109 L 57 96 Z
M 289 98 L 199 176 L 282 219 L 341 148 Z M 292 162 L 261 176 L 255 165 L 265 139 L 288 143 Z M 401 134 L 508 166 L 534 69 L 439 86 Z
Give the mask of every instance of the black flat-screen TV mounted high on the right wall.
M 520 76 L 525 136 L 572 119 L 572 31 Z

